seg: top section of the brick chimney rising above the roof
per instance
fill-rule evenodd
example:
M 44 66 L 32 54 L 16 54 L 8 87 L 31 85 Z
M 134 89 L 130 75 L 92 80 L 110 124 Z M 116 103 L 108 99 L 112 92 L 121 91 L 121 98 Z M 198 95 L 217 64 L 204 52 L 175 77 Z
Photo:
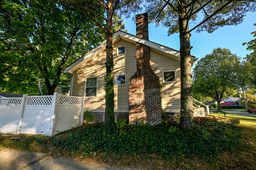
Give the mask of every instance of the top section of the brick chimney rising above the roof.
M 148 13 L 135 16 L 136 36 L 148 40 Z

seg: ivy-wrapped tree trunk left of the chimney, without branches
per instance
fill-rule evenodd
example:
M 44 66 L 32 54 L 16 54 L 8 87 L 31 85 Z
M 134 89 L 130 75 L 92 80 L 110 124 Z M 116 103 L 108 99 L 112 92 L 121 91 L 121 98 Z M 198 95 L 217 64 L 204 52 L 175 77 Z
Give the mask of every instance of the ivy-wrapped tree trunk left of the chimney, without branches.
M 113 1 L 108 1 L 107 8 L 107 34 L 106 34 L 106 76 L 105 76 L 105 125 L 108 129 L 115 126 L 115 112 L 114 112 L 114 64 L 113 64 L 113 27 L 112 27 L 112 4 Z

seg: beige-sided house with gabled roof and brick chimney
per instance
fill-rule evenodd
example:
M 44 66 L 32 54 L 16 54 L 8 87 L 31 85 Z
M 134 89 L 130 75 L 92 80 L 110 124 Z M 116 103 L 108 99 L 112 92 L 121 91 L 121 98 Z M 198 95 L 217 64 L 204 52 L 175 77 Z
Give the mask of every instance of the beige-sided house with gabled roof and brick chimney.
M 85 97 L 85 110 L 104 120 L 106 40 L 63 70 L 72 76 L 70 95 Z M 113 35 L 115 113 L 130 123 L 161 122 L 180 112 L 180 52 L 148 40 L 148 15 L 136 15 L 136 36 Z M 191 64 L 197 58 L 191 56 Z

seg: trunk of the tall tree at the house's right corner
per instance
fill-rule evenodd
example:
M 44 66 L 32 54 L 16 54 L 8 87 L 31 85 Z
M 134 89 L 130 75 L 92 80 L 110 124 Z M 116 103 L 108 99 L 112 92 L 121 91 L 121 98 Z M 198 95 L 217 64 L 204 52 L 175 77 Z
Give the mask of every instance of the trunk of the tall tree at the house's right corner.
M 180 69 L 181 69 L 181 98 L 180 98 L 180 128 L 182 130 L 193 125 L 193 96 L 192 96 L 192 75 L 191 75 L 191 55 L 190 55 L 190 33 L 188 29 L 188 18 L 184 18 L 187 13 L 185 4 L 178 7 L 181 12 L 179 16 L 180 31 Z

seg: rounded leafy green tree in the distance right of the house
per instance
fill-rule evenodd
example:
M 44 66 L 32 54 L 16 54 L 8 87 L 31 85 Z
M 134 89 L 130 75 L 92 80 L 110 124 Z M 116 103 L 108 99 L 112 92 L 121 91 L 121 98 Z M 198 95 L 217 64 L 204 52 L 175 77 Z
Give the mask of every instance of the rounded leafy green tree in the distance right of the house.
M 221 101 L 237 93 L 237 68 L 239 57 L 229 49 L 216 48 L 201 58 L 193 71 L 194 89 L 197 93 L 216 99 L 218 110 Z

